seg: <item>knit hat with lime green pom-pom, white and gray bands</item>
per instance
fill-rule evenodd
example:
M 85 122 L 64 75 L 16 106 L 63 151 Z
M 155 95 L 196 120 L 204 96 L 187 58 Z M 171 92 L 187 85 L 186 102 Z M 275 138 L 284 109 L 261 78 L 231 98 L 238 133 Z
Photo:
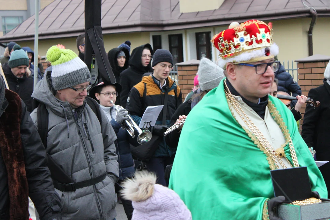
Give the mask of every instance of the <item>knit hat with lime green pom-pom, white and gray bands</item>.
M 46 56 L 53 67 L 51 81 L 55 90 L 90 81 L 90 72 L 86 64 L 72 50 L 52 46 Z

